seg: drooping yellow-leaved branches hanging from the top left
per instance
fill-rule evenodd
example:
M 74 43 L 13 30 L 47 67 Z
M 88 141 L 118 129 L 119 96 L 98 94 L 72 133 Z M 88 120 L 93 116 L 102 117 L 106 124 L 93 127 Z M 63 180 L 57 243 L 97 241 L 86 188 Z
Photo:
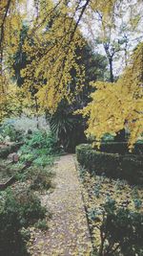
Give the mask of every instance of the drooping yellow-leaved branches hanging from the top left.
M 22 76 L 25 77 L 26 92 L 29 92 L 31 83 L 38 90 L 37 98 L 41 107 L 53 112 L 63 98 L 71 102 L 73 95 L 81 89 L 84 67 L 77 64 L 76 49 L 82 47 L 84 42 L 78 30 L 79 23 L 83 15 L 89 15 L 92 10 L 102 10 L 107 17 L 116 2 L 118 0 L 34 1 L 29 37 L 22 46 L 32 61 L 23 70 Z M 16 53 L 27 3 L 27 0 L 2 0 L 0 3 L 0 76 L 3 93 L 7 56 L 12 57 Z M 71 86 L 72 70 L 77 79 L 74 89 Z

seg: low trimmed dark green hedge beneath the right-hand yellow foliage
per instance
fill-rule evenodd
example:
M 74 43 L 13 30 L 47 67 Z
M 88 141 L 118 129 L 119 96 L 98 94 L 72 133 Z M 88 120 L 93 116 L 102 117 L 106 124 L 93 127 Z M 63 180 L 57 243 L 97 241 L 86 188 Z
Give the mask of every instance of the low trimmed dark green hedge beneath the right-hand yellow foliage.
M 101 150 L 102 146 L 106 148 L 103 144 Z M 117 147 L 117 143 L 114 146 Z M 114 146 L 111 145 L 110 151 Z M 108 147 L 109 144 L 106 150 Z M 141 144 L 139 147 L 141 148 Z M 76 155 L 78 162 L 92 174 L 127 179 L 131 184 L 143 184 L 143 156 L 141 154 L 96 151 L 91 145 L 82 144 L 76 147 Z

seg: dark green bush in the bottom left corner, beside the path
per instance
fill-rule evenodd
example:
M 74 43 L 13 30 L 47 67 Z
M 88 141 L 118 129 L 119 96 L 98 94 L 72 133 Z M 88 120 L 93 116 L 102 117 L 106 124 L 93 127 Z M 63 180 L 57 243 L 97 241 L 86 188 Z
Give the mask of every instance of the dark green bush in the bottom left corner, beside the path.
M 23 227 L 45 217 L 45 208 L 29 191 L 0 194 L 0 255 L 26 256 L 26 236 Z

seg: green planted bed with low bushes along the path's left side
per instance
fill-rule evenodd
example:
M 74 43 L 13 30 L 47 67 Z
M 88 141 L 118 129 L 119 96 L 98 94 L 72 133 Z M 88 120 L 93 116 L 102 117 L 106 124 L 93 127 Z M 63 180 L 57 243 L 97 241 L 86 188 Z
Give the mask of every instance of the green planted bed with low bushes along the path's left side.
M 5 125 L 9 135 L 10 128 Z M 0 181 L 6 182 L 14 175 L 14 183 L 0 192 L 0 254 L 29 255 L 33 229 L 35 232 L 47 230 L 50 213 L 41 205 L 41 200 L 43 191 L 49 193 L 52 187 L 51 166 L 56 153 L 56 140 L 51 132 L 37 129 L 23 133 L 17 163 L 1 158 Z

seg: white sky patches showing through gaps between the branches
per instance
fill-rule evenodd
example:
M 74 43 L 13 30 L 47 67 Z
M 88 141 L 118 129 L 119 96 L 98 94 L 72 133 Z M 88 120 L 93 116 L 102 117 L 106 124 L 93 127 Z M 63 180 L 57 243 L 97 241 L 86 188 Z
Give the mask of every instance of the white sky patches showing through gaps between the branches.
M 124 0 L 124 6 L 123 6 L 123 12 L 124 16 L 122 19 L 117 18 L 116 19 L 116 30 L 112 31 L 111 36 L 111 42 L 117 42 L 117 40 L 122 39 L 121 34 L 119 33 L 120 25 L 125 23 L 127 24 L 130 21 L 130 13 L 135 12 L 136 17 L 139 12 L 143 13 L 143 5 L 140 6 L 136 2 L 137 0 L 131 0 L 130 5 L 132 5 L 132 8 L 129 10 L 129 1 Z M 33 15 L 33 0 L 27 0 L 27 12 L 28 12 L 28 18 L 32 19 Z M 128 50 L 130 53 L 133 52 L 133 49 L 136 47 L 137 43 L 141 40 L 143 40 L 143 20 L 140 21 L 140 24 L 138 26 L 139 32 L 136 34 L 134 31 L 126 31 L 126 35 L 128 36 L 129 43 L 128 43 Z M 97 36 L 101 36 L 101 27 L 99 22 L 97 22 L 97 17 L 95 14 L 90 16 L 84 16 L 82 22 L 80 23 L 80 30 L 82 34 L 86 37 L 89 44 L 92 46 L 92 50 L 94 52 L 98 52 L 102 55 L 105 55 L 105 50 L 103 47 L 103 44 L 97 45 L 95 43 L 95 39 Z M 136 40 L 137 38 L 137 40 Z M 129 58 L 130 59 L 130 58 Z M 114 61 L 113 61 L 113 73 L 115 76 L 118 76 L 122 73 L 123 69 L 125 67 L 125 58 L 124 58 L 124 51 L 120 52 L 119 54 L 115 55 Z

